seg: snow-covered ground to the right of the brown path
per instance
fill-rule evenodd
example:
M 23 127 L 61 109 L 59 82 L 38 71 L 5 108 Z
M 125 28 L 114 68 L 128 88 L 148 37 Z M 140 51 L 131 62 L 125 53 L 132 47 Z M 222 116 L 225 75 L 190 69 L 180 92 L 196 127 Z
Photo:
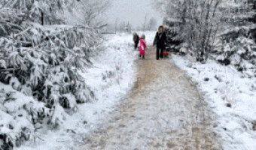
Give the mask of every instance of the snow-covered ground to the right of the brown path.
M 206 64 L 172 55 L 178 68 L 186 71 L 197 83 L 206 103 L 218 115 L 216 132 L 222 136 L 224 150 L 256 149 L 256 78 L 248 78 L 232 65 L 219 65 L 213 60 Z

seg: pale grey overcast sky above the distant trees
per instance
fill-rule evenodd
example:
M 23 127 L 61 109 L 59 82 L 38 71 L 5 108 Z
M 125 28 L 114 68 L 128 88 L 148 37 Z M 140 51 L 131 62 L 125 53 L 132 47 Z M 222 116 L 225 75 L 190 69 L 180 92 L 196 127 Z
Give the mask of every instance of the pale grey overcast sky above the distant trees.
M 145 15 L 147 20 L 154 17 L 157 26 L 162 25 L 163 17 L 154 10 L 151 5 L 153 0 L 111 0 L 112 7 L 106 12 L 108 21 L 114 23 L 116 18 L 119 22 L 129 22 L 133 28 L 144 25 Z M 148 23 L 148 22 L 147 22 Z

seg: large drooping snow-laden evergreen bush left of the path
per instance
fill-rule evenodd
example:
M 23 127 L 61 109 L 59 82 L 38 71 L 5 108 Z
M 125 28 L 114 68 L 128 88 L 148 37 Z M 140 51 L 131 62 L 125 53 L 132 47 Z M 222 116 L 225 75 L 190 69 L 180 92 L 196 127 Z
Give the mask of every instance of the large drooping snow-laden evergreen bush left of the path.
M 41 26 L 29 22 L 26 25 L 20 32 L 0 37 L 0 82 L 23 95 L 21 98 L 17 94 L 15 98 L 14 94 L 4 95 L 0 98 L 0 110 L 11 115 L 14 122 L 19 122 L 17 113 L 22 113 L 26 117 L 20 121 L 26 120 L 25 127 L 29 127 L 17 126 L 24 122 L 13 124 L 11 128 L 17 134 L 12 136 L 9 123 L 2 122 L 2 127 L 9 128 L 0 127 L 6 131 L 0 131 L 0 139 L 11 138 L 11 142 L 3 144 L 10 147 L 20 145 L 23 141 L 20 134 L 32 136 L 33 126 L 57 127 L 65 119 L 66 110 L 75 113 L 77 103 L 96 101 L 80 72 L 92 65 L 90 55 L 99 50 L 96 44 L 101 37 L 97 28 L 87 27 L 90 30 L 84 34 L 81 26 Z M 28 139 L 27 136 L 24 138 Z

